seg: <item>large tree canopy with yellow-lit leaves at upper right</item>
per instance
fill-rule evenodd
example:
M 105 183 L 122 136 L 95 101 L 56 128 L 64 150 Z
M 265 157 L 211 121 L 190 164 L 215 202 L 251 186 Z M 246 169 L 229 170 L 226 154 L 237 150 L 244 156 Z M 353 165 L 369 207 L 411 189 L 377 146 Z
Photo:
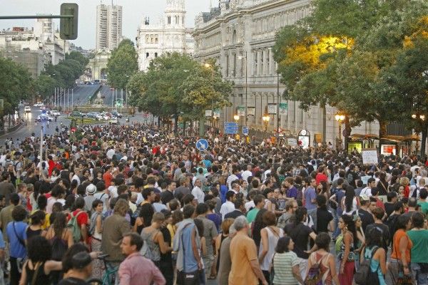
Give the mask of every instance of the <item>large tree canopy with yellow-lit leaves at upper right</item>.
M 274 55 L 285 97 L 304 109 L 335 106 L 350 120 L 347 128 L 377 120 L 381 136 L 387 123 L 409 121 L 414 107 L 398 92 L 401 86 L 392 86 L 391 73 L 403 71 L 400 55 L 412 36 L 426 31 L 420 23 L 427 1 L 315 0 L 313 7 L 306 19 L 277 33 Z M 409 73 L 401 76 L 400 82 L 410 82 Z

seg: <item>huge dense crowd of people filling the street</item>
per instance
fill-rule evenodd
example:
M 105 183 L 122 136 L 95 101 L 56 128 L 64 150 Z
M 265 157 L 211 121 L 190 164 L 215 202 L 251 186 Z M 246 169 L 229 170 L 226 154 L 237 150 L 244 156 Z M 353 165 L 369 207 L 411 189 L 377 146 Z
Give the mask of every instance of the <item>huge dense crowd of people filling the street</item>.
M 0 285 L 428 284 L 426 159 L 208 137 L 199 151 L 131 123 L 8 140 Z

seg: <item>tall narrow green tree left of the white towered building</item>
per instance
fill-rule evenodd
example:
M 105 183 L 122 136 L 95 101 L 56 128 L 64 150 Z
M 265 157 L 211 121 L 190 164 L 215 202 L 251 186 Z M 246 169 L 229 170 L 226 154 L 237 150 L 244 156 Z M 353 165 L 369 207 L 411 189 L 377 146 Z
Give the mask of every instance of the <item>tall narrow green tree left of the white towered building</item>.
M 108 84 L 114 88 L 126 88 L 129 78 L 138 71 L 136 48 L 131 40 L 119 43 L 108 58 L 107 78 Z

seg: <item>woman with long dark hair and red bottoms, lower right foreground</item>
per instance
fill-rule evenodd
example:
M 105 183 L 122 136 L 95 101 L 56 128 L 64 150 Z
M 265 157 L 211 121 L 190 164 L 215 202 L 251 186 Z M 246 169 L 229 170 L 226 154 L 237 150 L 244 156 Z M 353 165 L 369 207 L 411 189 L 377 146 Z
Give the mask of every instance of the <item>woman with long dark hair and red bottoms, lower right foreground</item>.
M 352 285 L 355 269 L 354 244 L 357 242 L 354 219 L 347 214 L 343 214 L 339 219 L 339 229 L 343 235 L 340 252 L 337 255 L 337 260 L 340 261 L 339 280 L 341 285 Z

